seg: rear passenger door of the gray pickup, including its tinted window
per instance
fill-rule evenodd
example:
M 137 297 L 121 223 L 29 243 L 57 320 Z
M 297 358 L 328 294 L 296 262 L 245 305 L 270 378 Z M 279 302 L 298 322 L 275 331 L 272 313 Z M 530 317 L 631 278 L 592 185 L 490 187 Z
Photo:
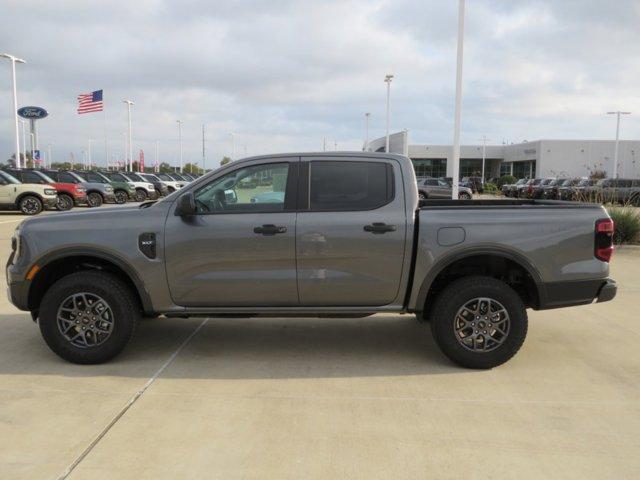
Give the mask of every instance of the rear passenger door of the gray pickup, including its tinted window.
M 307 161 L 308 160 L 308 161 Z M 406 215 L 391 159 L 308 158 L 297 221 L 302 306 L 379 306 L 399 295 Z

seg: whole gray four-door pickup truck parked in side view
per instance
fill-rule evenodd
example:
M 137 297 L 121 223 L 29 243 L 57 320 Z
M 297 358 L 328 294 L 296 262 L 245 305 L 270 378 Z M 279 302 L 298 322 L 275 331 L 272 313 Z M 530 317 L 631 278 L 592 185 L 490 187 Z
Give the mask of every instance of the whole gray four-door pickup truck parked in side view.
M 612 233 L 593 204 L 421 201 L 400 155 L 271 155 L 158 202 L 25 220 L 7 283 L 76 363 L 114 357 L 141 316 L 396 312 L 428 321 L 459 365 L 491 368 L 522 345 L 527 308 L 615 296 Z

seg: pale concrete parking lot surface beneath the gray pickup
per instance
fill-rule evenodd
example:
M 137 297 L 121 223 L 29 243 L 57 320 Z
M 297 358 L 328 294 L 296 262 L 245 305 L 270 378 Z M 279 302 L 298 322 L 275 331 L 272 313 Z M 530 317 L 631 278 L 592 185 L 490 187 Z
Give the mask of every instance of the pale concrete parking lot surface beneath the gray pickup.
M 21 219 L 0 215 L 3 265 Z M 78 366 L 2 295 L 0 478 L 635 479 L 639 271 L 617 251 L 613 302 L 530 311 L 491 371 L 411 315 L 145 320 Z

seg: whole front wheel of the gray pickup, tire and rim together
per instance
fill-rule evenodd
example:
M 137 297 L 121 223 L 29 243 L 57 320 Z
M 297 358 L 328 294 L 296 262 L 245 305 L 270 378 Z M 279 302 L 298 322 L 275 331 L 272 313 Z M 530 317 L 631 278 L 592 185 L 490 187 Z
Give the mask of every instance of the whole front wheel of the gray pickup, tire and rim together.
M 140 307 L 120 279 L 105 272 L 77 272 L 58 280 L 40 304 L 45 342 L 71 363 L 103 363 L 133 338 Z

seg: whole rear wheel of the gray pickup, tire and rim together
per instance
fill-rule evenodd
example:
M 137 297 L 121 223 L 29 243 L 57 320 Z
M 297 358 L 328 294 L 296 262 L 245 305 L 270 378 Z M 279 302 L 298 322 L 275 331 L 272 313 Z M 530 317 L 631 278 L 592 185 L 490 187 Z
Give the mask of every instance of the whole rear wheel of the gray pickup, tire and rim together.
M 430 319 L 442 352 L 466 368 L 502 365 L 527 336 L 527 312 L 520 296 L 491 277 L 465 277 L 449 284 L 436 298 Z

